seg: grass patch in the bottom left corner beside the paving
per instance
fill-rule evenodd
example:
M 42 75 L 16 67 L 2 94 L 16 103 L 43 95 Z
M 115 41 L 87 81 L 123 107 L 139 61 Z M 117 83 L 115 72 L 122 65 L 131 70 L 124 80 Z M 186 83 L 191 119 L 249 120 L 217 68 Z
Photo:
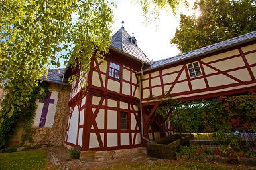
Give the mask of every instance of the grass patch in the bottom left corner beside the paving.
M 1 153 L 0 169 L 47 169 L 46 151 L 36 149 L 31 151 Z

